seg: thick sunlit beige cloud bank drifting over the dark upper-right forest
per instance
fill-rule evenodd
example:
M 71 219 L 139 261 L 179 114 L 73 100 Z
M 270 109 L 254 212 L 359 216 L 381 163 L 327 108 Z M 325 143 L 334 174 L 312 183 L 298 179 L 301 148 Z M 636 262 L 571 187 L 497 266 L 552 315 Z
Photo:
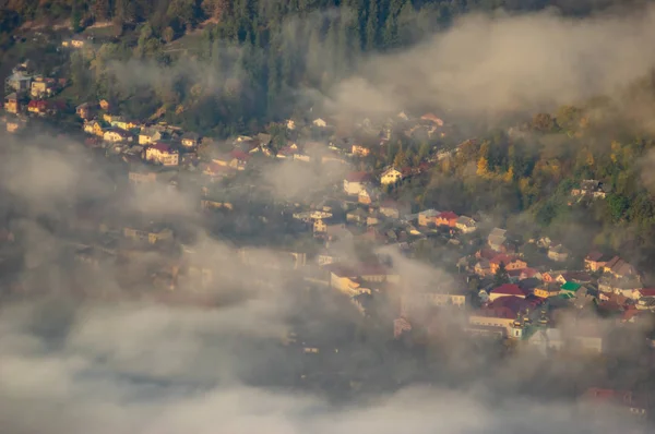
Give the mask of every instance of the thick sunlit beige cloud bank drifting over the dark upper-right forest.
M 335 111 L 434 107 L 471 116 L 553 108 L 612 95 L 646 74 L 655 9 L 587 19 L 553 10 L 467 14 L 407 51 L 371 58 L 334 88 Z

